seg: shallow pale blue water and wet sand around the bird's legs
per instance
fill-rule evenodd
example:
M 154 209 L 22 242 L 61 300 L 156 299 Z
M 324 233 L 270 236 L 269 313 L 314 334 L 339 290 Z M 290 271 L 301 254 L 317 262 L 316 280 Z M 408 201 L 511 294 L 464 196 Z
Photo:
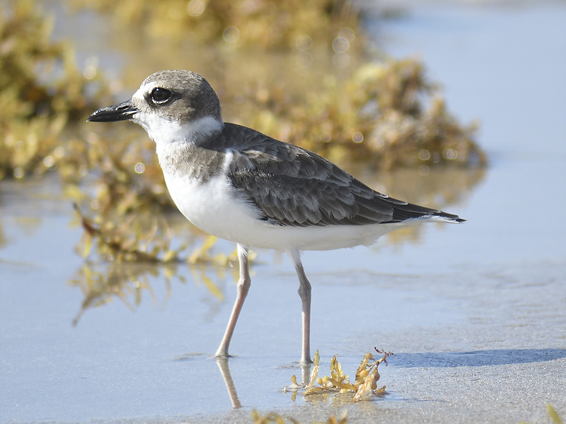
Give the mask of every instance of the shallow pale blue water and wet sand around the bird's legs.
M 209 356 L 235 297 L 230 272 L 178 266 L 167 283 L 163 267 L 138 267 L 139 287 L 81 312 L 71 204 L 50 179 L 3 181 L 0 421 L 250 422 L 256 408 L 310 422 L 348 408 L 350 423 L 548 422 L 547 402 L 566 416 L 566 5 L 409 10 L 373 29 L 393 56 L 422 57 L 463 122 L 480 119 L 489 170 L 446 208 L 468 222 L 304 254 L 323 372 L 336 353 L 353 375 L 374 346 L 393 351 L 380 367 L 388 394 L 349 405 L 282 393 L 301 374 L 300 302 L 277 254 L 253 266 L 230 377 Z

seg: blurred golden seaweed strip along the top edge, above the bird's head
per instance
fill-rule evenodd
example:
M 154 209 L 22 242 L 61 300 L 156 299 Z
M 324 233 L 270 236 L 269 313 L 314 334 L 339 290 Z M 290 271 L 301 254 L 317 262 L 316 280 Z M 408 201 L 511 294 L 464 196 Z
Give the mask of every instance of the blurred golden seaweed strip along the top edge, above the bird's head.
M 305 43 L 344 42 L 359 25 L 350 0 L 69 0 L 109 13 L 119 25 L 141 26 L 151 38 L 236 47 L 289 49 Z M 341 40 L 344 39 L 344 40 Z M 352 41 L 352 40 L 350 40 Z

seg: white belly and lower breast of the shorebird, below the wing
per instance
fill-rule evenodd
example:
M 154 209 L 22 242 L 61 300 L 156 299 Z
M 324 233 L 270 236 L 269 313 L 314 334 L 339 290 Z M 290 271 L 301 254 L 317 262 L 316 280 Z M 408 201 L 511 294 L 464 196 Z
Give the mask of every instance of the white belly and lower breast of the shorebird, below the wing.
M 173 201 L 197 228 L 249 247 L 275 250 L 332 250 L 371 245 L 381 235 L 403 224 L 326 225 L 290 227 L 260 220 L 260 211 L 234 191 L 229 179 L 218 176 L 207 182 L 166 176 Z

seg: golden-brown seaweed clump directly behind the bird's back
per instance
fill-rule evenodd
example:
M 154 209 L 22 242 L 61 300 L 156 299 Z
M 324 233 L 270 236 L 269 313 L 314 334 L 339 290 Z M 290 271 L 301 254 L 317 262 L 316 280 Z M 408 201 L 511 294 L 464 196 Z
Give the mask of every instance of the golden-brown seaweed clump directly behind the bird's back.
M 340 83 L 297 101 L 281 87 L 248 90 L 252 107 L 239 119 L 333 161 L 396 167 L 483 167 L 473 141 L 475 125 L 462 126 L 414 59 L 361 66 Z

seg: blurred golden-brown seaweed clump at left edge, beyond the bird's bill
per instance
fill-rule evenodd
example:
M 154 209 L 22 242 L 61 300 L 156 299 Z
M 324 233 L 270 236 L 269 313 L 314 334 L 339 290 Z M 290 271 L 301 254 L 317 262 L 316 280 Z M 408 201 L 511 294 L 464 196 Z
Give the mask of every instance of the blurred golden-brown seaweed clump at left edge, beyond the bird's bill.
M 69 45 L 50 40 L 51 30 L 33 1 L 0 9 L 0 179 L 53 167 L 65 126 L 105 90 L 96 71 L 77 69 Z

